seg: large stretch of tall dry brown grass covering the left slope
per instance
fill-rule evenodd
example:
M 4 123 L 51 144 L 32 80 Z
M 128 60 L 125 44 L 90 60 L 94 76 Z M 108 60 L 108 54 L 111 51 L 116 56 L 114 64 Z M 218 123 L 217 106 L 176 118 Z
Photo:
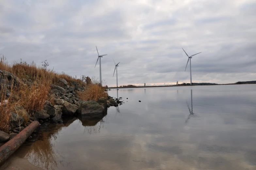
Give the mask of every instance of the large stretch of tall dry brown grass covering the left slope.
M 0 58 L 0 70 L 11 72 L 23 81 L 15 89 L 9 89 L 11 97 L 8 99 L 8 103 L 0 106 L 0 130 L 3 131 L 8 131 L 10 112 L 16 112 L 18 115 L 24 117 L 25 122 L 28 121 L 26 115 L 23 114 L 24 111 L 15 109 L 15 105 L 23 106 L 32 116 L 35 110 L 41 110 L 43 108 L 46 100 L 54 102 L 49 96 L 49 91 L 51 90 L 51 84 L 57 85 L 59 79 L 64 78 L 69 85 L 72 85 L 73 81 L 79 85 L 84 85 L 76 77 L 69 76 L 64 72 L 58 74 L 53 70 L 37 66 L 34 62 L 27 64 L 21 61 L 9 64 L 4 56 Z M 1 101 L 6 100 L 5 89 L 2 88 L 0 91 Z

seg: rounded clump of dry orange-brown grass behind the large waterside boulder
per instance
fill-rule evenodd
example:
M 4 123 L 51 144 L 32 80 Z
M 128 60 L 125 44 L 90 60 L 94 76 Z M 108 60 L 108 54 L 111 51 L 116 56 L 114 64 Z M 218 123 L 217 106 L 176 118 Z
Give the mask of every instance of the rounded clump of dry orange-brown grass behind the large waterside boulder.
M 91 84 L 86 86 L 83 92 L 78 92 L 78 98 L 81 100 L 99 100 L 101 97 L 107 97 L 108 94 L 105 92 L 105 88 L 98 84 Z

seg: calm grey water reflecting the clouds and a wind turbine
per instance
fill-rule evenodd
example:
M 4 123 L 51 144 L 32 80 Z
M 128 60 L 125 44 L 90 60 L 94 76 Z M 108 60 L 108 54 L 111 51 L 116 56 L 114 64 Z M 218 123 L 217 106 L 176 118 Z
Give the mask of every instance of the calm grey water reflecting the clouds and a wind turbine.
M 256 169 L 256 85 L 118 93 L 103 119 L 51 125 L 16 155 L 47 170 Z

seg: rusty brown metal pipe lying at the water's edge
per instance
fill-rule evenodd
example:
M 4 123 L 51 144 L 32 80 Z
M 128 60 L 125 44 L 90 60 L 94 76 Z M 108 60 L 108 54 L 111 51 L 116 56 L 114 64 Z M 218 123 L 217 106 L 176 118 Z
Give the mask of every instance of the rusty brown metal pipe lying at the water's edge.
M 25 140 L 31 135 L 33 131 L 37 129 L 37 127 L 39 127 L 39 122 L 33 121 L 14 138 L 0 147 L 0 165 L 25 142 Z

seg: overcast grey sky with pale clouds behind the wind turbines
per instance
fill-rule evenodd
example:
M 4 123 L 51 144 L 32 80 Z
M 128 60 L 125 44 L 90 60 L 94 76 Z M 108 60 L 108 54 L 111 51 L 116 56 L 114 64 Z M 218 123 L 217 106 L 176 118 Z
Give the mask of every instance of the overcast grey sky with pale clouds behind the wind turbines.
M 255 0 L 1 0 L 0 54 L 116 85 L 256 80 Z

